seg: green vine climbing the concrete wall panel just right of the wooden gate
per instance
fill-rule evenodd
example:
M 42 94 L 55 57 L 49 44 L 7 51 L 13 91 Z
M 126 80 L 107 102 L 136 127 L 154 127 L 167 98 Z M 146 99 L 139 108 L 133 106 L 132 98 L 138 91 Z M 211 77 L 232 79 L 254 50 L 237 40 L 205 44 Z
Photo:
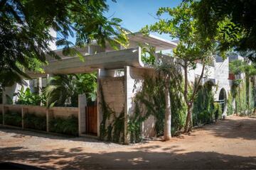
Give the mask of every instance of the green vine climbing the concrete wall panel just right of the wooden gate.
M 100 139 L 122 143 L 124 142 L 124 107 L 121 113 L 115 113 L 105 101 L 101 84 L 99 84 L 99 89 L 101 96 L 100 105 L 102 108 Z M 111 122 L 107 123 L 107 121 Z

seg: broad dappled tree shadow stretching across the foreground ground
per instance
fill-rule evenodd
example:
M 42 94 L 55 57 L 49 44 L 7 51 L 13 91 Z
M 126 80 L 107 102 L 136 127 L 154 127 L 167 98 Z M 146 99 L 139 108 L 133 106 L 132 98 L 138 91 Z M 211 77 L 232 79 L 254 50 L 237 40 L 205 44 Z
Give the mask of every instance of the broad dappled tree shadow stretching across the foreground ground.
M 153 146 L 153 149 L 156 146 Z M 73 148 L 50 152 L 26 151 L 22 147 L 0 150 L 2 162 L 26 162 L 46 169 L 253 169 L 256 157 L 239 157 L 216 152 L 150 152 L 149 148 L 131 152 L 87 153 Z

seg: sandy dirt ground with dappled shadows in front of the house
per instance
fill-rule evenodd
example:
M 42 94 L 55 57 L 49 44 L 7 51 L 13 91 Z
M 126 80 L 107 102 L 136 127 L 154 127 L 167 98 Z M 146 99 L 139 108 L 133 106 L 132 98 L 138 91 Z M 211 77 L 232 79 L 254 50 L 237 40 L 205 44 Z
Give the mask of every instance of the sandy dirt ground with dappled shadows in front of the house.
M 230 116 L 170 142 L 129 146 L 0 128 L 0 162 L 44 169 L 256 169 L 256 118 Z

